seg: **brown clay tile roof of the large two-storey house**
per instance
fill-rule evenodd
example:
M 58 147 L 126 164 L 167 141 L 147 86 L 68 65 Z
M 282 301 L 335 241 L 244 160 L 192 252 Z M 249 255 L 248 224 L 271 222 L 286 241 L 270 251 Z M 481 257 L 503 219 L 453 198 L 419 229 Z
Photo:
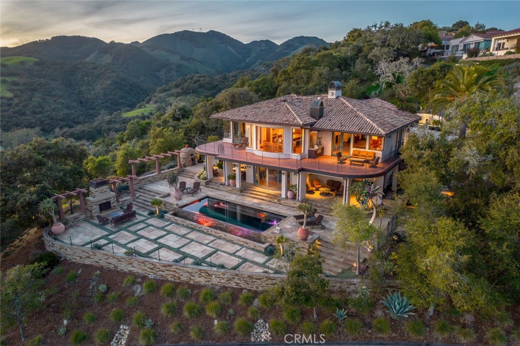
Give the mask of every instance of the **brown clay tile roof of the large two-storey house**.
M 323 116 L 310 116 L 310 104 L 323 102 Z M 212 118 L 273 125 L 305 126 L 315 130 L 355 132 L 388 136 L 421 119 L 417 114 L 400 111 L 381 99 L 356 100 L 327 95 L 286 95 L 267 101 L 213 114 Z

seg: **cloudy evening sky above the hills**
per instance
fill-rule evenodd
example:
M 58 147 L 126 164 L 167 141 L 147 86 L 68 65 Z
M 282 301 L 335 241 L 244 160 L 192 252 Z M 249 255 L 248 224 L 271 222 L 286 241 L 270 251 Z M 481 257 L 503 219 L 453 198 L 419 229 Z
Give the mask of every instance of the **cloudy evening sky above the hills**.
M 423 19 L 439 26 L 466 20 L 487 28 L 520 28 L 518 0 L 2 0 L 0 10 L 0 45 L 9 47 L 57 35 L 143 42 L 181 30 L 216 30 L 244 43 L 280 44 L 301 35 L 335 42 L 353 28 Z

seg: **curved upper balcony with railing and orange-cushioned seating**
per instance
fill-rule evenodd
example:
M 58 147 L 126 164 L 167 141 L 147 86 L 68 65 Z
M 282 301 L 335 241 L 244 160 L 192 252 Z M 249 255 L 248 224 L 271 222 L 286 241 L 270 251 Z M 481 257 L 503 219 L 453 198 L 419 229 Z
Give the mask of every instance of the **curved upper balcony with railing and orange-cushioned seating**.
M 204 139 L 202 139 L 204 138 Z M 239 147 L 236 144 L 218 140 L 208 142 L 207 136 L 197 139 L 197 152 L 201 155 L 212 156 L 223 161 L 249 164 L 288 170 L 293 172 L 308 171 L 317 174 L 329 174 L 341 178 L 373 178 L 386 174 L 401 161 L 398 150 L 392 150 L 382 157 L 378 165 L 372 167 L 367 163 L 347 160 L 341 164 L 336 156 L 322 155 L 308 158 L 306 154 L 273 154 L 252 148 Z M 299 156 L 300 158 L 297 158 Z

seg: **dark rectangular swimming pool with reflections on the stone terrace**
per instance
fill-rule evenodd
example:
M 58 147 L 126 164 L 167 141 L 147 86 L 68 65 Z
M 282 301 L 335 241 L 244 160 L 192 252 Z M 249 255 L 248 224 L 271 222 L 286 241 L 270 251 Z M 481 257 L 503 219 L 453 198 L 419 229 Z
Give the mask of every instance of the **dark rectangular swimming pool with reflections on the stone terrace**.
M 285 218 L 265 210 L 243 206 L 219 198 L 205 197 L 180 208 L 211 219 L 261 233 Z M 210 225 L 210 227 L 212 227 Z

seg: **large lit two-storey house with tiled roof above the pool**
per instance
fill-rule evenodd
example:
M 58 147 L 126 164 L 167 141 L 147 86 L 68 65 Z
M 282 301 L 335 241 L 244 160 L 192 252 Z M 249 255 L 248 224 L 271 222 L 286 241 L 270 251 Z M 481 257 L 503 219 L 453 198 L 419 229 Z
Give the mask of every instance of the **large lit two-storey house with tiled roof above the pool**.
M 365 178 L 395 191 L 399 149 L 421 117 L 377 98 L 344 97 L 341 90 L 340 82 L 331 82 L 326 95 L 286 95 L 213 114 L 224 122 L 222 140 L 201 136 L 196 149 L 206 156 L 207 177 L 220 160 L 226 185 L 240 169 L 236 189 L 245 181 L 281 198 L 294 184 L 298 201 L 320 195 L 356 204 L 349 186 Z M 319 190 L 325 185 L 330 192 Z

